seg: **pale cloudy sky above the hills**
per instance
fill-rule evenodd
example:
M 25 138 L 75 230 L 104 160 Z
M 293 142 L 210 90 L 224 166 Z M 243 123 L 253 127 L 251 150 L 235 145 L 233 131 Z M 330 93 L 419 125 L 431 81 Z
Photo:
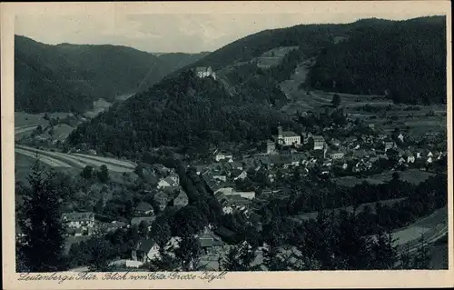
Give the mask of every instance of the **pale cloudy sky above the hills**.
M 359 4 L 359 2 L 357 2 Z M 375 9 L 374 9 L 375 8 Z M 126 45 L 147 52 L 198 53 L 214 51 L 246 35 L 273 28 L 301 24 L 350 23 L 360 18 L 409 19 L 423 15 L 440 15 L 428 9 L 390 13 L 371 7 L 366 12 L 346 12 L 301 9 L 285 13 L 268 10 L 265 13 L 189 14 L 167 12 L 118 13 L 118 9 L 88 10 L 76 14 L 42 13 L 16 14 L 15 34 L 25 35 L 45 44 L 111 44 Z M 335 11 L 333 11 L 335 10 Z M 50 12 L 49 12 L 50 11 Z M 341 12 L 340 12 L 341 11 Z

